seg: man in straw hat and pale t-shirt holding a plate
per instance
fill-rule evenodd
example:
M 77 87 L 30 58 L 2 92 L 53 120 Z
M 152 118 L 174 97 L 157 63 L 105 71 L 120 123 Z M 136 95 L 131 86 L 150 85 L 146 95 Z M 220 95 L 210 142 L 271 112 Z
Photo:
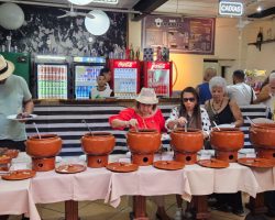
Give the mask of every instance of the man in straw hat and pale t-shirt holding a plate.
M 26 81 L 12 73 L 14 65 L 0 55 L 0 147 L 25 151 L 25 121 L 7 117 L 21 113 L 28 117 L 33 111 L 32 95 Z

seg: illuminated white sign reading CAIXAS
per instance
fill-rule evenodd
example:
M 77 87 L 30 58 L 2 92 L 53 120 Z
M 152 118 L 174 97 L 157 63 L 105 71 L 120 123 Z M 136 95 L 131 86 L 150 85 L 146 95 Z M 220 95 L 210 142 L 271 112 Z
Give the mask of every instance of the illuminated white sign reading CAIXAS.
M 243 14 L 243 3 L 221 0 L 219 3 L 219 14 L 241 16 Z

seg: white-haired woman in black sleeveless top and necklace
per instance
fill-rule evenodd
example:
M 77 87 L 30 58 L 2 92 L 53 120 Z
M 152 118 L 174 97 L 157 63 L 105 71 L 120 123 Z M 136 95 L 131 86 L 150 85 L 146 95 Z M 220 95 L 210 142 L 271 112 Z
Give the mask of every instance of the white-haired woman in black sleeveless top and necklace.
M 212 98 L 206 101 L 205 107 L 211 123 L 241 127 L 243 117 L 237 102 L 227 97 L 226 79 L 220 76 L 211 78 L 209 88 Z M 215 197 L 217 202 L 212 206 L 213 209 L 226 212 L 232 211 L 237 216 L 244 216 L 240 191 L 237 194 L 217 194 Z

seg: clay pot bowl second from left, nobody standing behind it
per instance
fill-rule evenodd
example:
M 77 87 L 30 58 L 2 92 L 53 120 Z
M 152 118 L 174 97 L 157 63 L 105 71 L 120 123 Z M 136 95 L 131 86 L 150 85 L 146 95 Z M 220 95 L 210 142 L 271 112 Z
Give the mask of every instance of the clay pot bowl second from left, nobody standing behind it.
M 114 136 L 108 132 L 91 132 L 81 138 L 82 151 L 89 155 L 110 154 L 114 144 Z

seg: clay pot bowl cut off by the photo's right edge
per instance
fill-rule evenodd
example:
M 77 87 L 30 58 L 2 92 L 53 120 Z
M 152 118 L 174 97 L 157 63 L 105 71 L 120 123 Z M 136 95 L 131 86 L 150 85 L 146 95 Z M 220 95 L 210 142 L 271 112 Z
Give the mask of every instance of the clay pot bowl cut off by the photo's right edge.
M 250 141 L 255 147 L 275 150 L 275 123 L 252 124 Z

